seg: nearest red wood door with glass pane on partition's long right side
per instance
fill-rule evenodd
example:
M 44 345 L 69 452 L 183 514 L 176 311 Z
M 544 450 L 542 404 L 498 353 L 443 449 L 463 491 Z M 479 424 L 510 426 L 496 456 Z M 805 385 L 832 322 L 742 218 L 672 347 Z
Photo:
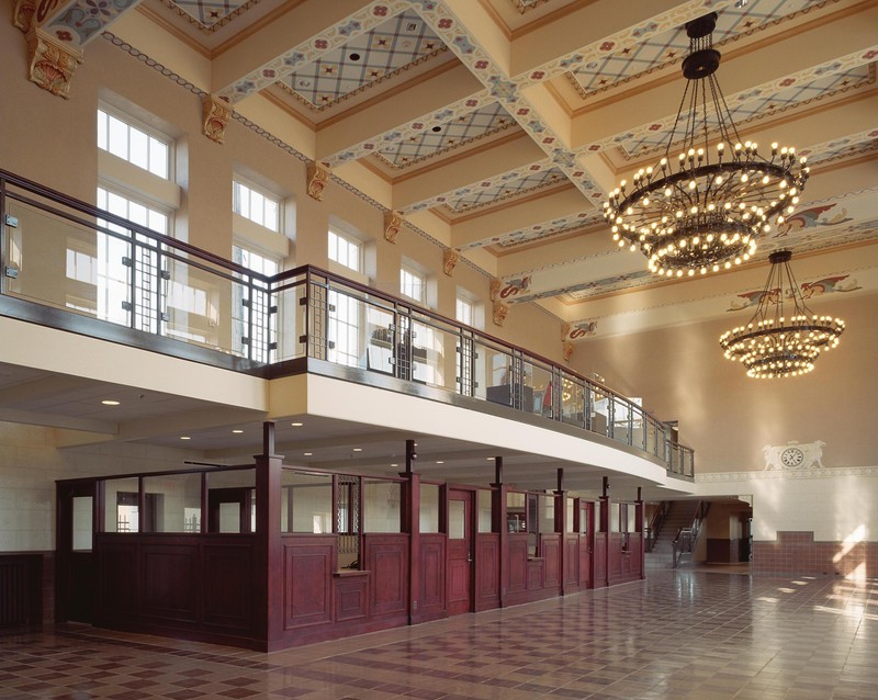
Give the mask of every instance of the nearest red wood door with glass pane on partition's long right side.
M 469 490 L 448 492 L 448 614 L 473 609 L 473 497 Z

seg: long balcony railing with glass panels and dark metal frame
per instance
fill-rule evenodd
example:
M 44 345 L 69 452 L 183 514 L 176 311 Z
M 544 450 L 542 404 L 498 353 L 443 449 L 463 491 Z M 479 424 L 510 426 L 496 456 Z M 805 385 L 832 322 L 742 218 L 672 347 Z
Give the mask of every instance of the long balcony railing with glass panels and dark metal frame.
M 693 451 L 634 402 L 403 298 L 311 266 L 267 276 L 2 170 L 0 216 L 3 315 L 271 376 L 348 368 L 351 381 L 574 426 L 694 475 Z

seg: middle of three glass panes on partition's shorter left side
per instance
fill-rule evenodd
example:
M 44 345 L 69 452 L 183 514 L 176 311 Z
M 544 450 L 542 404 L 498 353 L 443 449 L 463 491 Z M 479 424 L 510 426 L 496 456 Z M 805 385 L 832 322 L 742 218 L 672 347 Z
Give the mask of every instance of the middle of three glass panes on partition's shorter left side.
M 144 478 L 150 527 L 144 532 L 201 532 L 201 474 L 169 474 Z

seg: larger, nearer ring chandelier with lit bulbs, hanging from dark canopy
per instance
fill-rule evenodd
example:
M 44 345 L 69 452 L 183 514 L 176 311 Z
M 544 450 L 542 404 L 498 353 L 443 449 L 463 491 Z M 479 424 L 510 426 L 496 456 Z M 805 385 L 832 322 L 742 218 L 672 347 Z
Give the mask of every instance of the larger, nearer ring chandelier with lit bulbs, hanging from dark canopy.
M 713 48 L 717 13 L 686 24 L 686 89 L 664 157 L 622 180 L 604 204 L 620 247 L 640 248 L 653 272 L 667 276 L 731 268 L 756 250 L 756 237 L 795 211 L 808 179 L 806 159 L 772 144 L 770 159 L 742 142 L 725 103 Z M 688 103 L 687 103 L 688 100 Z M 686 109 L 684 109 L 686 108 Z M 680 127 L 682 134 L 677 134 Z M 710 148 L 708 134 L 718 133 Z M 671 147 L 682 142 L 677 157 Z

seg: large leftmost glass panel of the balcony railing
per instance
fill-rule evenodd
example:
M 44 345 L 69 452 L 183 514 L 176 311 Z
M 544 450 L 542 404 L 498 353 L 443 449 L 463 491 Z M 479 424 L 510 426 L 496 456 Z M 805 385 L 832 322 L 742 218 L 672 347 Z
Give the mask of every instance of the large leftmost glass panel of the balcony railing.
M 128 326 L 133 258 L 127 233 L 98 232 L 8 200 L 4 292 Z

